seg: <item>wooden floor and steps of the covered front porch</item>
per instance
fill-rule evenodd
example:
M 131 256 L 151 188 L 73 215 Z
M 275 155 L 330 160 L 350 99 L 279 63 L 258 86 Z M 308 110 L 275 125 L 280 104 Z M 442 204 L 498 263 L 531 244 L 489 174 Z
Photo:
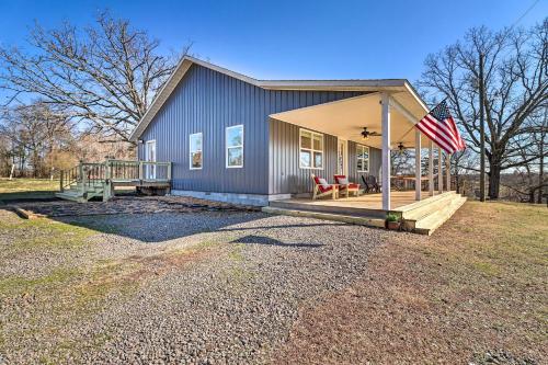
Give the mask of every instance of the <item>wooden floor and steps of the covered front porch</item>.
M 414 191 L 392 191 L 391 209 L 402 219 L 406 229 L 431 235 L 447 220 L 466 201 L 455 192 L 422 192 L 415 201 Z M 387 210 L 383 209 L 383 194 L 316 199 L 295 197 L 274 201 L 264 212 L 341 220 L 352 224 L 384 227 Z

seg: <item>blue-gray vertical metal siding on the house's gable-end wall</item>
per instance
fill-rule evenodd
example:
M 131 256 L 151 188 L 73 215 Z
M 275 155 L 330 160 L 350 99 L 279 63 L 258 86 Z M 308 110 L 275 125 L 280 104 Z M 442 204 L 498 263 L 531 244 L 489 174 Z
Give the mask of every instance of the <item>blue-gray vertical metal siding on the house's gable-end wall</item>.
M 267 194 L 269 115 L 361 94 L 264 90 L 193 65 L 139 139 L 156 139 L 157 160 L 173 162 L 175 190 Z M 243 168 L 227 169 L 225 129 L 239 124 L 244 129 Z M 190 170 L 189 135 L 198 132 L 203 169 Z

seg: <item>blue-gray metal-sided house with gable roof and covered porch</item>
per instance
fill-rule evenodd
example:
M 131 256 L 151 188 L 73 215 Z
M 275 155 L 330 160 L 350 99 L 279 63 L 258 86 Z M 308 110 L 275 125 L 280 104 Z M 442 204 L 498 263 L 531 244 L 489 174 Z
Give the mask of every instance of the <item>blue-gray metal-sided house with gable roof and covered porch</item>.
M 442 150 L 434 174 L 436 146 L 413 127 L 426 113 L 404 79 L 256 80 L 186 56 L 130 139 L 138 142 L 139 160 L 172 163 L 172 194 L 276 206 L 309 196 L 312 173 L 331 181 L 345 174 L 355 182 L 373 175 L 383 186 L 376 209 L 386 213 L 403 201 L 420 203 L 424 180 L 426 196 L 435 195 L 434 179 L 437 193 L 444 181 L 450 190 Z M 425 147 L 427 178 L 420 164 Z M 414 192 L 395 204 L 399 193 L 383 171 L 390 171 L 390 150 L 398 148 L 414 148 L 418 159 L 410 178 Z M 297 203 L 304 208 L 304 201 Z

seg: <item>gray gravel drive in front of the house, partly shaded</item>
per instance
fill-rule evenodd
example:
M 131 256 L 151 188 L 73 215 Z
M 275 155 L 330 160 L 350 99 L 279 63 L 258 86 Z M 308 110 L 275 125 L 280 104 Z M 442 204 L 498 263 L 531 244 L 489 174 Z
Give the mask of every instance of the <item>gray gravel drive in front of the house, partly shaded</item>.
M 390 235 L 261 213 L 109 219 L 117 233 L 94 237 L 103 256 L 144 262 L 168 248 L 213 242 L 213 249 L 163 265 L 129 300 L 113 300 L 91 321 L 67 328 L 90 343 L 77 362 L 264 363 L 285 341 L 298 308 L 350 285 Z M 92 344 L 98 338 L 101 346 Z

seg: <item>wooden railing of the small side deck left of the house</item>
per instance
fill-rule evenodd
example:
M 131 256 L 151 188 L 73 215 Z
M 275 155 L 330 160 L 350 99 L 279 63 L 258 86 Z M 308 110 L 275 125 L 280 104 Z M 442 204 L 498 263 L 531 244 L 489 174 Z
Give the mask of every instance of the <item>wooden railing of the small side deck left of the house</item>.
M 171 162 L 106 160 L 83 162 L 60 172 L 60 191 L 78 183 L 85 192 L 91 187 L 110 182 L 169 182 Z

